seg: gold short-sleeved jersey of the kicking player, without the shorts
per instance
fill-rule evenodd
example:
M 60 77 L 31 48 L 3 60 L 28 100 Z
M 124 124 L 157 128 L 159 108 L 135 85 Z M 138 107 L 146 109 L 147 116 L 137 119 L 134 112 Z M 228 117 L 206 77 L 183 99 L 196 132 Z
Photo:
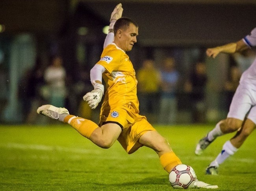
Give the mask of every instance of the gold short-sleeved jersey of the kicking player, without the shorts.
M 131 105 L 139 113 L 137 98 L 137 80 L 129 56 L 114 43 L 109 44 L 102 52 L 97 63 L 106 68 L 102 77 L 107 85 L 101 113 L 110 111 L 114 105 Z

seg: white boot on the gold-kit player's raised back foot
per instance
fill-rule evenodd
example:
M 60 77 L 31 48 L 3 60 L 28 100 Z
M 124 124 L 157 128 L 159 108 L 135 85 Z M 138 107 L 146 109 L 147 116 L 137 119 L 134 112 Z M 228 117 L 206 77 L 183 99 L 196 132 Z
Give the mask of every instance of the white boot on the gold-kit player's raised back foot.
M 52 105 L 43 105 L 41 107 L 38 107 L 37 113 L 53 119 L 59 119 L 59 115 L 61 114 L 69 115 L 69 111 L 66 108 L 55 107 Z

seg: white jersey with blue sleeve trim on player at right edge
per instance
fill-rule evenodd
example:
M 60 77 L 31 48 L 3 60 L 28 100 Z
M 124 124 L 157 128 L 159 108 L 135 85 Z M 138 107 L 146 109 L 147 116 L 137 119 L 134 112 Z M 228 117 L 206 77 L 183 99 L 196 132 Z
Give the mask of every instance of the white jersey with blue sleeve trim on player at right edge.
M 243 38 L 243 42 L 250 48 L 256 47 L 256 27 L 251 31 L 250 35 Z M 252 65 L 242 74 L 240 84 L 249 85 L 251 89 L 256 90 L 256 58 L 252 62 Z

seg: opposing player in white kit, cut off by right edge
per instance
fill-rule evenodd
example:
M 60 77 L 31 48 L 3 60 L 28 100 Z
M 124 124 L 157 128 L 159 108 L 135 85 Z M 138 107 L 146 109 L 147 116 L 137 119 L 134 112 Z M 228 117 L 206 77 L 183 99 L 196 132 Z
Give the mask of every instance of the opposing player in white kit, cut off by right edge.
M 241 40 L 223 46 L 209 48 L 206 54 L 215 58 L 219 53 L 236 53 L 256 47 L 256 28 Z M 201 155 L 218 136 L 237 131 L 236 135 L 223 145 L 221 153 L 206 168 L 206 174 L 218 175 L 218 167 L 229 156 L 234 155 L 256 124 L 256 59 L 242 74 L 239 86 L 233 96 L 228 116 L 217 123 L 197 144 L 195 154 Z

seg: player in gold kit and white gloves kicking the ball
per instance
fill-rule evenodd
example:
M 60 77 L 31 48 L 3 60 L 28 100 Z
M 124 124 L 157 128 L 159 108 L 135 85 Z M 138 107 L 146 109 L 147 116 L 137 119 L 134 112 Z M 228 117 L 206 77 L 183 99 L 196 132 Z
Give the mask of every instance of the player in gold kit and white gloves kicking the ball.
M 126 51 L 132 50 L 137 42 L 138 25 L 130 18 L 122 16 L 122 4 L 118 4 L 111 14 L 109 33 L 104 43 L 100 60 L 90 71 L 94 90 L 83 96 L 92 109 L 98 106 L 106 83 L 106 92 L 100 111 L 100 123 L 70 115 L 65 108 L 44 105 L 37 113 L 70 124 L 81 135 L 102 148 L 109 148 L 118 140 L 128 154 L 139 147 L 147 146 L 158 154 L 160 163 L 168 173 L 182 164 L 167 140 L 139 115 L 137 80 L 135 71 Z M 217 188 L 196 180 L 194 187 Z

